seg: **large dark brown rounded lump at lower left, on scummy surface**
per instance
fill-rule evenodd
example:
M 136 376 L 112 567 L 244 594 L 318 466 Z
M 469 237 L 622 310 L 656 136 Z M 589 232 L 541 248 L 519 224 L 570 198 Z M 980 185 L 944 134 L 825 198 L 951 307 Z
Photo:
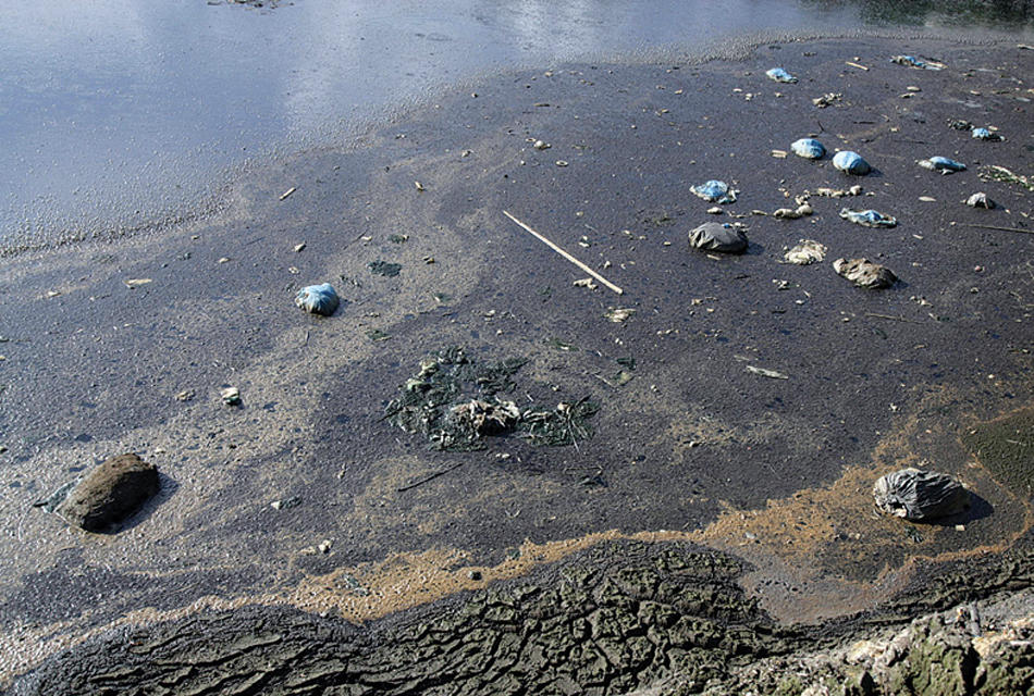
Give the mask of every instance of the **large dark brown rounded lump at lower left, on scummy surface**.
M 158 487 L 155 464 L 120 455 L 89 472 L 54 511 L 87 532 L 106 532 L 139 510 Z

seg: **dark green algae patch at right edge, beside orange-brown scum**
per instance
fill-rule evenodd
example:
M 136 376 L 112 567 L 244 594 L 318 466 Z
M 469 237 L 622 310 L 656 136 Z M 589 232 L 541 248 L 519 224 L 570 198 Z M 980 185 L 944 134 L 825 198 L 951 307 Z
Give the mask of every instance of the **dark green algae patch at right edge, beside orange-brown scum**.
M 1015 495 L 1034 496 L 1034 408 L 981 423 L 962 436 L 962 444 Z

